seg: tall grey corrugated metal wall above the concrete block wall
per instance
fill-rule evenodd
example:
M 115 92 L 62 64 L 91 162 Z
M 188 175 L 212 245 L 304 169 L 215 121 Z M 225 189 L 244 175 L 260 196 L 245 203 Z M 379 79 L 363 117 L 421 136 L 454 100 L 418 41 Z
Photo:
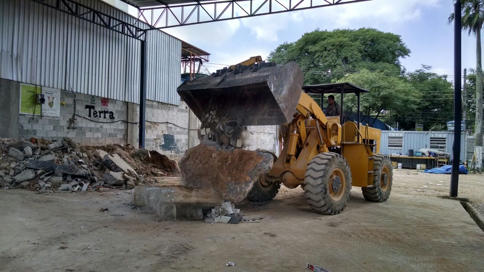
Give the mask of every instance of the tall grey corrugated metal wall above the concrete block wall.
M 147 28 L 98 0 L 78 0 Z M 0 1 L 0 77 L 138 103 L 140 41 L 30 0 Z M 147 36 L 147 99 L 180 105 L 181 41 Z

